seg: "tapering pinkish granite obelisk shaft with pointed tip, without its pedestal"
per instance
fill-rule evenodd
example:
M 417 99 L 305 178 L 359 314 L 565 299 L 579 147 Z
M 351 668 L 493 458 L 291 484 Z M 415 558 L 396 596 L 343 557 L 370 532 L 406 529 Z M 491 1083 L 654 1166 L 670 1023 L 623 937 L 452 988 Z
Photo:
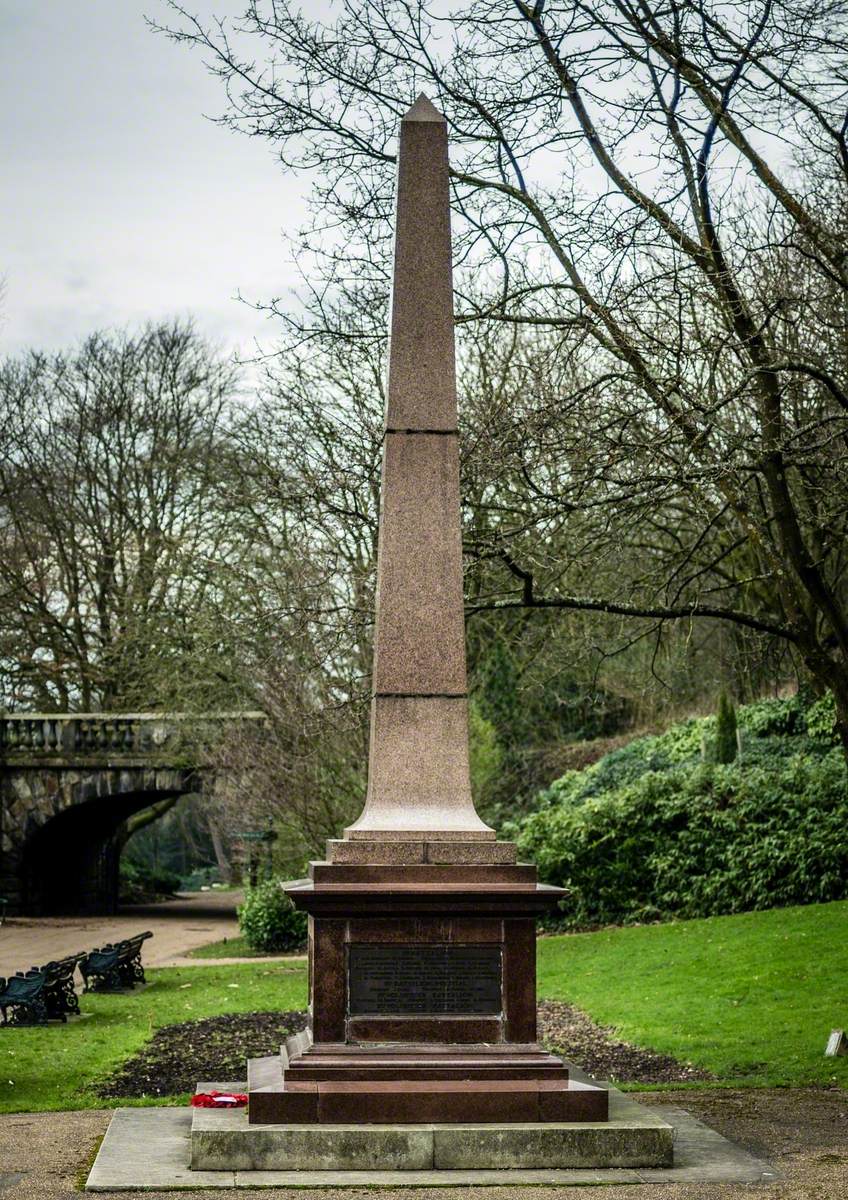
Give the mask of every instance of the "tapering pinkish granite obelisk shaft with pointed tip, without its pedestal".
M 447 127 L 401 122 L 371 754 L 353 840 L 494 840 L 471 800 Z

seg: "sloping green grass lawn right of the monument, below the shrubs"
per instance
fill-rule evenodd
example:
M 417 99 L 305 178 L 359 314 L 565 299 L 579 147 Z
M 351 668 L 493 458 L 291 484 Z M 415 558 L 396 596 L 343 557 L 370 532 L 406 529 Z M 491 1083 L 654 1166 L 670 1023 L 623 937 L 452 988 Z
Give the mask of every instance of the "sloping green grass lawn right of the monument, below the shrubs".
M 848 1086 L 848 901 L 545 937 L 539 992 L 722 1081 Z

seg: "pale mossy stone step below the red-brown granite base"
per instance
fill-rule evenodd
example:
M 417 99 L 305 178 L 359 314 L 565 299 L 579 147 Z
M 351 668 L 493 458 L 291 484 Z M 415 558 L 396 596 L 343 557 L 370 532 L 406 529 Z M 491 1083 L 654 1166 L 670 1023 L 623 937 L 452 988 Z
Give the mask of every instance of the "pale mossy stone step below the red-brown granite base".
M 603 1122 L 249 1124 L 243 1109 L 194 1109 L 191 1166 L 194 1171 L 668 1166 L 673 1136 L 667 1121 L 614 1088 L 609 1120 Z

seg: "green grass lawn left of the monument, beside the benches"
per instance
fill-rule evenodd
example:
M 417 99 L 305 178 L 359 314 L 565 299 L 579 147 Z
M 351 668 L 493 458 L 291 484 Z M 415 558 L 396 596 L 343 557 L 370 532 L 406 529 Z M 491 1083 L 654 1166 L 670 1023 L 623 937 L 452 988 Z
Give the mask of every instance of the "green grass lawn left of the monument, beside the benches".
M 0 1111 L 107 1108 L 91 1084 L 133 1055 L 161 1025 L 221 1013 L 306 1007 L 306 964 L 163 967 L 150 985 L 121 995 L 88 995 L 90 1016 L 41 1028 L 0 1027 Z M 150 1103 L 146 1100 L 145 1103 Z

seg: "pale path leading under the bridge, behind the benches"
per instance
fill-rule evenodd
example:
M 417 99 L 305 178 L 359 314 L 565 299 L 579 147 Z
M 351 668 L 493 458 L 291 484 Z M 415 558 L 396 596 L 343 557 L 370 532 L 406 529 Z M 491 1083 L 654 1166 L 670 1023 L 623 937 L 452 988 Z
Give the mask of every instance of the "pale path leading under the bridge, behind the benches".
M 235 937 L 240 902 L 240 892 L 194 892 L 164 904 L 126 907 L 116 917 L 10 917 L 0 925 L 0 977 L 145 929 L 154 932 L 144 943 L 145 966 L 197 965 L 202 960 L 185 960 L 186 952 Z

